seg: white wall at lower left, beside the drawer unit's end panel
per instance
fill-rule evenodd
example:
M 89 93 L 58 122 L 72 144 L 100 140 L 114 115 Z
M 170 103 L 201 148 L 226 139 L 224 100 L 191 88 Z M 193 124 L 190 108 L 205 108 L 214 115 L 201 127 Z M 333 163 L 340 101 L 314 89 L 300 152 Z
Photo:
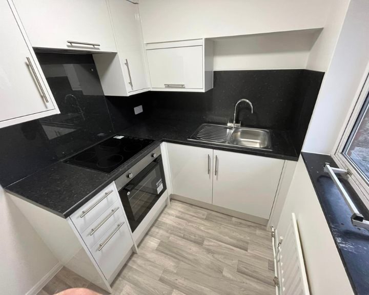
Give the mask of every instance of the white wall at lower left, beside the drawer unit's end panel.
M 57 259 L 0 186 L 0 294 L 24 295 Z

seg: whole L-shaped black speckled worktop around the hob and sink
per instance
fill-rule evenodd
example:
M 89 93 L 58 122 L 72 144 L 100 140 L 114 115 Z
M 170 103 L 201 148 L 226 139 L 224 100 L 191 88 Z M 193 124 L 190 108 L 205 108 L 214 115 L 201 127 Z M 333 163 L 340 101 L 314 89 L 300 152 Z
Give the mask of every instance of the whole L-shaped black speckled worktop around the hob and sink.
M 298 160 L 298 155 L 286 132 L 272 131 L 273 151 L 264 151 L 187 140 L 200 124 L 199 122 L 183 121 L 142 121 L 133 127 L 118 132 L 118 134 L 154 139 L 155 141 L 111 174 L 60 161 L 5 187 L 5 189 L 9 193 L 43 207 L 60 217 L 67 218 L 93 198 L 101 189 L 150 153 L 162 141 L 292 161 Z

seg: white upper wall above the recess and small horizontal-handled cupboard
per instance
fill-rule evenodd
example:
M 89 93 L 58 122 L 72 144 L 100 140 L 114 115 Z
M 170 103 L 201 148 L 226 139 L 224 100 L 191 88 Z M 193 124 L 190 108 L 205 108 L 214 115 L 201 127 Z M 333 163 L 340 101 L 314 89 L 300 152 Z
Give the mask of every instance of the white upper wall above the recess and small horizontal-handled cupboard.
M 141 0 L 146 43 L 322 28 L 331 0 Z

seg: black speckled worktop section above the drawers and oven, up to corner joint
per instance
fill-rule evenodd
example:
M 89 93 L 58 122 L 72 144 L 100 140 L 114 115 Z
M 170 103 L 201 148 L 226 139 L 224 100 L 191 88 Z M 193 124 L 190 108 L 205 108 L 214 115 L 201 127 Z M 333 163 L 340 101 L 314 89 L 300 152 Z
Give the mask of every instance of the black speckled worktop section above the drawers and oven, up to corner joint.
M 111 174 L 60 161 L 5 189 L 36 206 L 67 218 L 159 144 L 160 141 L 152 142 Z

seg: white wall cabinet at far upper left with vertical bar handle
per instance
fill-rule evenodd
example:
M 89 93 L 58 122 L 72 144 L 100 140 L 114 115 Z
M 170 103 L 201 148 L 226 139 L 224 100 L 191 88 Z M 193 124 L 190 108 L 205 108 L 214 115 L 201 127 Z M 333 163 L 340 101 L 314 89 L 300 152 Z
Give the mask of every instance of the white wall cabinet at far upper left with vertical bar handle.
M 59 113 L 11 1 L 0 1 L 0 128 Z

